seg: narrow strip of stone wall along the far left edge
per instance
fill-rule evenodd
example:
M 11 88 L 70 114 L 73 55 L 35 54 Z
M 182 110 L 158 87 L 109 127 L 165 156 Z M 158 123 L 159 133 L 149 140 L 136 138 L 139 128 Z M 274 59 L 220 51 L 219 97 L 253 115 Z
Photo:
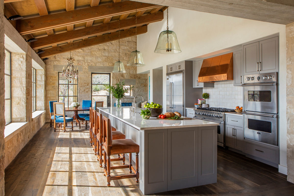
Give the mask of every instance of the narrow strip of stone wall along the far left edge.
M 0 1 L 0 16 L 3 16 L 4 1 Z M 3 17 L 0 17 L 0 26 L 4 26 Z M 0 83 L 4 84 L 4 28 L 0 28 Z M 0 87 L 0 195 L 4 195 L 4 158 L 5 158 L 5 140 L 4 140 L 4 85 Z

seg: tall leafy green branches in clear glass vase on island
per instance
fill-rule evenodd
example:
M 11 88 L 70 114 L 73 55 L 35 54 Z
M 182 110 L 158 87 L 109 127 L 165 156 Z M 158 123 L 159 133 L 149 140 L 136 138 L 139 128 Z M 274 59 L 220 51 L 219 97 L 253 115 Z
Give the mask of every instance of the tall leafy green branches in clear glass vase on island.
M 115 103 L 117 108 L 121 108 L 121 98 L 125 97 L 125 93 L 128 93 L 133 88 L 133 86 L 124 87 L 124 85 L 125 81 L 122 81 L 116 83 L 116 87 L 111 85 L 104 85 L 103 88 L 104 91 L 109 91 L 109 93 L 116 98 Z

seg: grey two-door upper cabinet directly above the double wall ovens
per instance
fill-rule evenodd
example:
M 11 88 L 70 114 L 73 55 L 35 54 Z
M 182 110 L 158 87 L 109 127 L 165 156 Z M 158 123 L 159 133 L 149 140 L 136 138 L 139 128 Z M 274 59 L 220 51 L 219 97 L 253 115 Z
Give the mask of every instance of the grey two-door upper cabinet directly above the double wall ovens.
M 278 53 L 278 36 L 244 45 L 244 75 L 278 72 Z

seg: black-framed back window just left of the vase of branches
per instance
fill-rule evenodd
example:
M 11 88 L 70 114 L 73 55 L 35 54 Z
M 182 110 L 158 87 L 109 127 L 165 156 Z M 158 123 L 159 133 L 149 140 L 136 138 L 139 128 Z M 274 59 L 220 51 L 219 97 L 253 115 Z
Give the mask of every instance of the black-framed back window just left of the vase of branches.
M 110 84 L 110 73 L 92 73 L 92 106 L 95 101 L 103 101 L 103 106 L 109 106 L 109 91 L 103 91 L 103 85 Z

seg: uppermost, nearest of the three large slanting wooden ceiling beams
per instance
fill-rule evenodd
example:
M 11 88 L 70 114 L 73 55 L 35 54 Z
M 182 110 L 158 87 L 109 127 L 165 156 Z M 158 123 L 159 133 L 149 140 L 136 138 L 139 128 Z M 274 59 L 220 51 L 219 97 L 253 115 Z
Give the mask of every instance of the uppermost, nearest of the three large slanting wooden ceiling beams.
M 153 9 L 157 7 L 161 6 L 137 2 L 138 11 Z M 28 33 L 46 31 L 49 29 L 78 24 L 91 20 L 104 19 L 110 16 L 113 17 L 121 14 L 132 13 L 134 11 L 136 11 L 136 2 L 121 1 L 117 3 L 104 4 L 74 11 L 19 20 L 16 23 L 16 29 L 21 35 L 24 35 Z

